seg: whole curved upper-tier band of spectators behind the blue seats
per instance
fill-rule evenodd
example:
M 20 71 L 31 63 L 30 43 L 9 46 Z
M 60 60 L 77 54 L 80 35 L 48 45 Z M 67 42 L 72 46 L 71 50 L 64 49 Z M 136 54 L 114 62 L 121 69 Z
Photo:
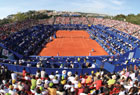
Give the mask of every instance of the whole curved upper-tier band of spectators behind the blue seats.
M 15 22 L 6 25 L 0 26 L 0 39 L 3 40 L 9 34 L 13 32 L 20 31 L 22 29 L 29 28 L 38 24 L 102 24 L 114 29 L 120 30 L 122 32 L 128 33 L 136 38 L 140 38 L 140 26 L 131 24 L 125 21 L 103 19 L 103 18 L 94 18 L 94 17 L 51 17 L 49 19 L 43 20 L 26 20 L 22 22 Z

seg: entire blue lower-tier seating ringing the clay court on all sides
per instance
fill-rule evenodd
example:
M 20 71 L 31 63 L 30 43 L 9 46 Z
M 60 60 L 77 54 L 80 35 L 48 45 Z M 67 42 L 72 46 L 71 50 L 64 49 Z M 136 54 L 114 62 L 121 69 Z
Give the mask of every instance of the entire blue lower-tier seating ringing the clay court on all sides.
M 32 28 L 22 30 L 20 32 L 14 33 L 10 37 L 2 41 L 3 45 L 7 48 L 22 54 L 23 56 L 37 55 L 44 45 L 49 42 L 49 37 L 53 36 L 57 30 L 87 30 L 91 35 L 91 38 L 95 40 L 110 54 L 110 56 L 101 57 L 90 57 L 88 62 L 90 63 L 88 68 L 93 68 L 92 65 L 95 64 L 94 68 L 100 68 L 104 66 L 105 62 L 113 64 L 116 63 L 119 58 L 115 57 L 113 61 L 109 61 L 111 56 L 122 56 L 123 54 L 137 48 L 140 45 L 140 41 L 131 35 L 124 32 L 118 31 L 116 29 L 106 27 L 104 25 L 92 25 L 88 28 L 87 25 L 77 25 L 77 24 L 55 24 L 55 25 L 38 25 Z M 129 40 L 128 40 L 129 39 Z M 65 57 L 61 58 L 37 58 L 36 56 L 30 58 L 30 64 L 32 67 L 36 67 L 37 64 L 41 62 L 48 62 L 48 65 L 43 65 L 45 68 L 70 68 L 71 63 L 78 63 L 80 65 L 74 64 L 75 68 L 86 68 L 86 62 L 83 62 L 84 58 L 80 57 L 80 62 L 77 62 L 77 57 Z M 105 60 L 105 61 L 104 61 Z M 117 62 L 116 62 L 116 61 Z M 96 62 L 97 61 L 97 62 Z M 70 63 L 71 62 L 71 63 Z M 124 62 L 124 61 L 120 61 Z M 28 62 L 23 62 L 23 66 L 27 66 Z M 64 64 L 65 63 L 65 64 Z M 67 63 L 67 64 L 66 64 Z M 91 64 L 92 63 L 92 64 Z M 102 64 L 100 64 L 102 63 Z M 99 65 L 100 64 L 100 65 Z M 117 64 L 118 65 L 118 64 Z M 115 70 L 115 69 L 114 69 Z

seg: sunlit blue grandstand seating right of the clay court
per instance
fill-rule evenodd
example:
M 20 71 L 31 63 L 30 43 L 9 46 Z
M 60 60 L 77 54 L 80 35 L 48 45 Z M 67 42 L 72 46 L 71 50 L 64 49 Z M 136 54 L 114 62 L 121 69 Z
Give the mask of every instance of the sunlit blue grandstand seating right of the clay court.
M 107 51 L 111 55 L 117 53 L 124 54 L 140 45 L 138 39 L 126 33 L 102 25 L 92 27 L 90 34 L 93 34 L 94 37 L 96 36 L 96 41 L 99 42 L 105 50 L 108 49 Z

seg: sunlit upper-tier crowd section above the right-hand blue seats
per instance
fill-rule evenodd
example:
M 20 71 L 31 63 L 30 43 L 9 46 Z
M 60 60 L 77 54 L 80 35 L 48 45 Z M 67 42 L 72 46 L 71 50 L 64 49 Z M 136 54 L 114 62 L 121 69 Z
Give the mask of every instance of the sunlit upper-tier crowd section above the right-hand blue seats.
M 90 24 L 102 24 L 108 27 L 112 27 L 114 29 L 117 29 L 119 31 L 128 33 L 132 36 L 135 36 L 136 38 L 140 38 L 140 26 L 135 25 L 129 22 L 124 21 L 118 21 L 118 20 L 111 20 L 111 19 L 103 19 L 103 18 L 91 18 L 89 17 L 88 20 L 90 21 Z

